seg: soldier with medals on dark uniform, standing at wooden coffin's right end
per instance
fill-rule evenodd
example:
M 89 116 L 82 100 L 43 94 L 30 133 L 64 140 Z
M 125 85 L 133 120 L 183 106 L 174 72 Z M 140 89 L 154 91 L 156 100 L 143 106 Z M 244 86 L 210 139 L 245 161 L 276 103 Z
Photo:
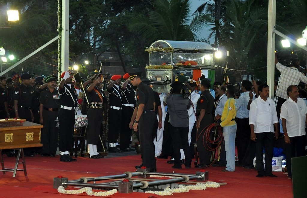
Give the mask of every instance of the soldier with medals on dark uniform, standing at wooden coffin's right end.
M 39 120 L 40 123 L 44 125 L 41 133 L 41 143 L 43 144 L 41 156 L 55 157 L 58 138 L 55 120 L 58 116 L 60 107 L 60 95 L 58 90 L 55 89 L 55 77 L 48 76 L 45 79 L 45 83 L 48 84 L 48 89 L 45 89 L 41 93 L 39 100 Z

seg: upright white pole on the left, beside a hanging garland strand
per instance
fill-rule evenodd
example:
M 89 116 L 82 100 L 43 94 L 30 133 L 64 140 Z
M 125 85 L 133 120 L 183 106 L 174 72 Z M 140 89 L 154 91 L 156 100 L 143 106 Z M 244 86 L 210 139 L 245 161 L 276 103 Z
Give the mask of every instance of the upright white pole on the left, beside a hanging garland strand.
M 69 0 L 62 0 L 61 73 L 68 71 L 69 57 Z

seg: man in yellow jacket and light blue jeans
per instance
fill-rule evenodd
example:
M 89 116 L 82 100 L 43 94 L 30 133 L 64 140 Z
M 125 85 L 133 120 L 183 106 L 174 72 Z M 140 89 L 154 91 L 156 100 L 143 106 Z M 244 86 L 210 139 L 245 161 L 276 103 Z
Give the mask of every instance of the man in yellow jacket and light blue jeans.
M 233 98 L 235 94 L 235 86 L 227 85 L 226 95 L 227 101 L 225 103 L 221 123 L 216 123 L 216 126 L 223 127 L 223 136 L 225 140 L 226 150 L 226 169 L 221 170 L 222 172 L 234 172 L 235 171 L 235 135 L 237 131 L 237 124 L 235 122 L 235 116 L 237 114 L 236 102 Z

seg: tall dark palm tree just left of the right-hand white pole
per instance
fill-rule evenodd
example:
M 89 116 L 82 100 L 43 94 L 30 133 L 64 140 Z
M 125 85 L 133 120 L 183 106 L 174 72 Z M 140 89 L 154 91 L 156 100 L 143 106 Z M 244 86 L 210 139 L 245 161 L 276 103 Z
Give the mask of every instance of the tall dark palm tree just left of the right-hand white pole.
M 264 41 L 267 32 L 267 10 L 253 8 L 254 0 L 230 1 L 226 5 L 226 15 L 221 29 L 223 46 L 229 49 L 229 68 L 248 69 L 249 55 L 253 45 Z M 222 43 L 222 42 L 221 42 Z M 241 81 L 241 71 L 236 71 L 236 82 Z

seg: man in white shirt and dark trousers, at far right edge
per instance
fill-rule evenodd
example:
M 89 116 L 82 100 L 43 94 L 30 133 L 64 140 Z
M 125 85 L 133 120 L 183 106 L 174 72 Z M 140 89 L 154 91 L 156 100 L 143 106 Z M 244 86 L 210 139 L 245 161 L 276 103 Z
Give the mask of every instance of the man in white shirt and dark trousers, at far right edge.
M 280 118 L 286 142 L 286 166 L 291 179 L 291 158 L 295 157 L 295 153 L 297 157 L 305 155 L 307 107 L 304 100 L 298 97 L 297 86 L 290 85 L 286 91 L 289 99 L 282 104 Z

